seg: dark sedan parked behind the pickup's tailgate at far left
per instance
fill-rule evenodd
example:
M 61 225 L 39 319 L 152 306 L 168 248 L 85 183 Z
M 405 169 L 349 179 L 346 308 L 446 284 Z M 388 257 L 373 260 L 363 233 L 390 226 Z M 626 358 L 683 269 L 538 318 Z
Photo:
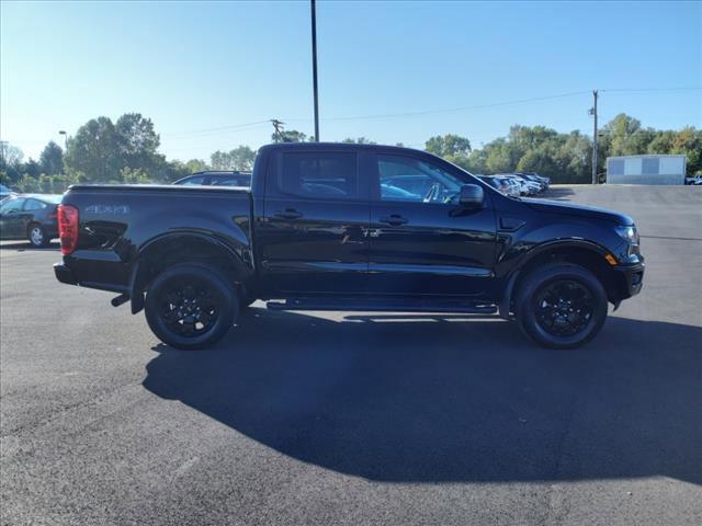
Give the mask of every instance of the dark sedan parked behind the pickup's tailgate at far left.
M 46 247 L 58 237 L 56 207 L 60 195 L 18 194 L 0 205 L 0 238 L 27 239 L 33 247 Z

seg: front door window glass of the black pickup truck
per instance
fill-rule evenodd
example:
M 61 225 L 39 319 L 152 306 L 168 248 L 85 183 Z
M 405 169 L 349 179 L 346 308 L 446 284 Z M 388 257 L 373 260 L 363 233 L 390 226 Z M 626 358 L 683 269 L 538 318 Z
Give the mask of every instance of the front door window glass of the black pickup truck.
M 410 157 L 377 156 L 381 201 L 451 203 L 463 181 L 439 167 Z

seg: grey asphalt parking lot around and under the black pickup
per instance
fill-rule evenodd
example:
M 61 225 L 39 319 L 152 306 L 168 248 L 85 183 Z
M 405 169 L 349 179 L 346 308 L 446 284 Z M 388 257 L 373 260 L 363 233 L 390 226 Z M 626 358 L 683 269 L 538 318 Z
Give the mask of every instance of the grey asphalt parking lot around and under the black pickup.
M 2 524 L 702 524 L 702 187 L 551 197 L 631 214 L 647 259 L 577 351 L 257 302 L 180 352 L 3 242 Z

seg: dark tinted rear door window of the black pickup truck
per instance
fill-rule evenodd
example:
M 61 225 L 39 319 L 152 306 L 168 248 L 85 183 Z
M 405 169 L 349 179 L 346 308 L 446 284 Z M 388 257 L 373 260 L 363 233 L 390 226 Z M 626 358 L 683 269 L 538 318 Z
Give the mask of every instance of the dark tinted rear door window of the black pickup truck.
M 358 157 L 346 152 L 285 152 L 278 187 L 301 197 L 354 199 L 359 196 Z

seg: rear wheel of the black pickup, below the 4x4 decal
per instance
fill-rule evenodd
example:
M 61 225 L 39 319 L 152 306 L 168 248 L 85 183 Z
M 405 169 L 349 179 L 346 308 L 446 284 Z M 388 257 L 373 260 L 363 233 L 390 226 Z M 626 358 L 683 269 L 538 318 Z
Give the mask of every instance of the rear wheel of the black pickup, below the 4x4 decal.
M 239 313 L 239 298 L 218 270 L 182 263 L 154 281 L 144 310 L 161 342 L 182 350 L 205 348 L 229 331 Z

